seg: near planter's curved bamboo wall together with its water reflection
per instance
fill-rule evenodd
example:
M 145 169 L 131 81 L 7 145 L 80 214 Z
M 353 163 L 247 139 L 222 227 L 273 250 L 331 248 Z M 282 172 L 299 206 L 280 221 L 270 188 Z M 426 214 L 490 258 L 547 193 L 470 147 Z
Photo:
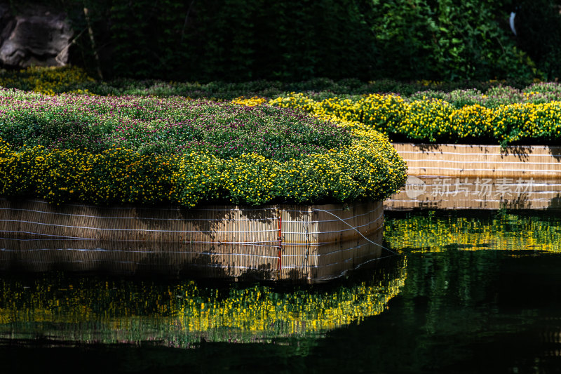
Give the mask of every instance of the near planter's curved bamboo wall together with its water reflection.
M 156 271 L 311 282 L 377 258 L 384 222 L 381 202 L 348 209 L 280 205 L 187 210 L 0 200 L 0 212 L 4 269 Z

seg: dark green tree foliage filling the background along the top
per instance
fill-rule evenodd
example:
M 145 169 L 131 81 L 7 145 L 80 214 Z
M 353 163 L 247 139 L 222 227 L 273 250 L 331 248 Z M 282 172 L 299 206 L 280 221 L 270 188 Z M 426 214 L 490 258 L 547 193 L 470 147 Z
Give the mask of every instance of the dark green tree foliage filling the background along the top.
M 89 9 L 106 77 L 454 81 L 560 73 L 560 0 L 43 2 L 66 11 L 76 34 Z M 29 6 L 11 4 L 15 12 Z M 515 9 L 518 36 L 508 27 Z M 76 45 L 72 62 L 95 72 L 88 32 Z

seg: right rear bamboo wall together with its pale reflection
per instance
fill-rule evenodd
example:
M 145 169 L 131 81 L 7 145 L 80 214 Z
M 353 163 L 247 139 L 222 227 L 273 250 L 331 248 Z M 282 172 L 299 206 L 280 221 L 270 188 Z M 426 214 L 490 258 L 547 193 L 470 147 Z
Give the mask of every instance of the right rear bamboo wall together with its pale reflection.
M 561 147 L 395 143 L 409 178 L 388 209 L 561 207 Z M 419 178 L 417 180 L 416 178 Z M 423 191 L 415 192 L 422 188 Z

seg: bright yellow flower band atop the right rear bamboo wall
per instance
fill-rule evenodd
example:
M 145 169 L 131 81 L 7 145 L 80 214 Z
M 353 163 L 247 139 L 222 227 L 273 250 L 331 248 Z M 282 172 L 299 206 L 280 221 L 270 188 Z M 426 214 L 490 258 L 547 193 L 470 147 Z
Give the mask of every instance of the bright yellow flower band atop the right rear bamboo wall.
M 422 142 L 462 139 L 512 142 L 561 140 L 561 102 L 515 103 L 495 108 L 465 105 L 454 108 L 440 99 L 405 102 L 397 95 L 313 100 L 302 93 L 269 101 L 270 105 L 303 109 L 325 119 L 341 119 L 372 126 L 392 138 Z M 352 126 L 352 125 L 349 125 Z

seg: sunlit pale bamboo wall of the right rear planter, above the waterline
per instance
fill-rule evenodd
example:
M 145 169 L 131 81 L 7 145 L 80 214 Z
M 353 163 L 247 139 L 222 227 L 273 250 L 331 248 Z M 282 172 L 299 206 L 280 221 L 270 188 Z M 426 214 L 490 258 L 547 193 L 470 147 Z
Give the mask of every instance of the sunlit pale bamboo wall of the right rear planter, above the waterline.
M 395 143 L 409 175 L 561 178 L 561 147 Z

